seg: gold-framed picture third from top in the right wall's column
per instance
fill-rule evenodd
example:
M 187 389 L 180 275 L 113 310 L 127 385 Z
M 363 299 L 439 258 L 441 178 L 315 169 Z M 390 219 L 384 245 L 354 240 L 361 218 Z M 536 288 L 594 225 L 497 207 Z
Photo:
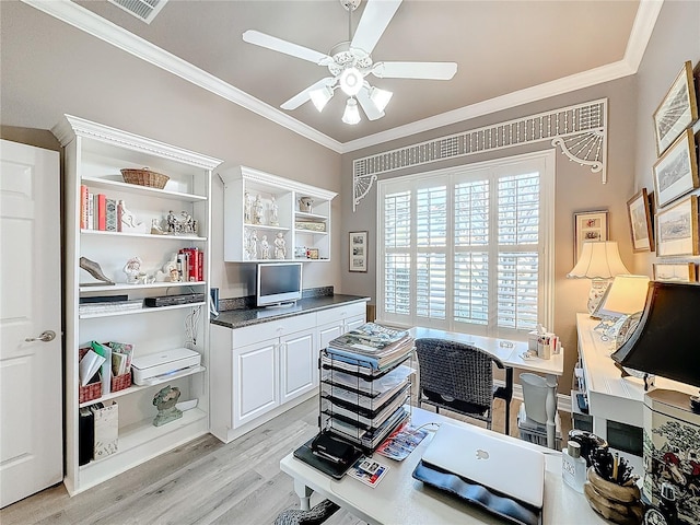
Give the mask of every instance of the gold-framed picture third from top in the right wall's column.
M 699 255 L 698 196 L 656 213 L 656 255 Z

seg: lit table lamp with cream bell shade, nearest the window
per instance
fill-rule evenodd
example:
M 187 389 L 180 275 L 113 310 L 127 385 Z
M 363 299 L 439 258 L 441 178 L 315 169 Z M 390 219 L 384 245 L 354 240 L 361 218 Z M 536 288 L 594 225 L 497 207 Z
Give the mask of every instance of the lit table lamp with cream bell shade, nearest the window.
M 592 314 L 610 279 L 620 273 L 629 273 L 629 270 L 620 259 L 617 243 L 614 241 L 593 241 L 583 243 L 581 257 L 573 269 L 567 273 L 570 279 L 592 279 L 588 292 L 588 313 Z

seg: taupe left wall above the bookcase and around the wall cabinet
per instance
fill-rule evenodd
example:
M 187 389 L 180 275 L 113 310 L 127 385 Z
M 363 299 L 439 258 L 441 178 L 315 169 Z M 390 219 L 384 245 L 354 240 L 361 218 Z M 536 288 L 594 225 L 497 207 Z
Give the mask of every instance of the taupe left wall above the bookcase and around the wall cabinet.
M 2 138 L 56 149 L 63 114 L 332 191 L 340 155 L 26 4 L 0 2 Z M 212 285 L 248 294 L 240 265 L 223 262 L 223 185 L 213 177 Z M 332 212 L 340 215 L 336 198 Z M 340 221 L 334 234 L 340 235 Z M 339 260 L 340 243 L 331 257 Z M 304 285 L 340 283 L 340 265 L 308 262 Z

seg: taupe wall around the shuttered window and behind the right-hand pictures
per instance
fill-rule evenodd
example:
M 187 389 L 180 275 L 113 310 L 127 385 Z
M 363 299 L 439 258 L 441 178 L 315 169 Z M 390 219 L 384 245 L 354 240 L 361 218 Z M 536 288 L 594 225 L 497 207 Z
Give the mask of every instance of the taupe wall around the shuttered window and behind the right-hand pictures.
M 380 147 L 368 148 L 343 155 L 342 189 L 343 234 L 355 230 L 370 232 L 370 246 L 376 243 L 376 189 L 374 188 L 352 212 L 352 161 L 377 152 L 422 142 L 489 124 L 518 118 L 584 103 L 596 98 L 608 98 L 608 183 L 600 184 L 598 174 L 569 162 L 562 154 L 557 160 L 556 229 L 555 229 L 555 331 L 564 346 L 564 376 L 559 383 L 559 392 L 569 394 L 572 384 L 573 365 L 578 359 L 575 314 L 585 312 L 590 288 L 587 280 L 565 278 L 573 267 L 573 213 L 583 210 L 609 210 L 609 238 L 617 241 L 620 255 L 630 271 L 651 277 L 649 256 L 634 255 L 631 248 L 627 200 L 639 187 L 653 189 L 651 166 L 655 162 L 652 114 L 670 86 L 685 60 L 693 65 L 700 58 L 700 2 L 666 1 L 662 8 L 653 37 L 648 46 L 640 73 L 634 77 L 608 82 L 537 103 L 514 107 L 509 110 L 475 118 L 430 132 L 396 140 Z M 639 93 L 638 93 L 639 92 Z M 541 148 L 541 147 L 538 147 Z M 434 163 L 421 171 L 431 171 L 459 163 L 472 163 L 488 159 L 520 154 L 532 151 L 514 148 L 508 153 L 475 155 L 451 163 Z M 416 170 L 396 172 L 387 176 L 400 176 Z M 347 243 L 345 243 L 347 245 Z M 348 258 L 347 246 L 342 246 L 342 257 Z M 376 249 L 370 255 L 368 273 L 342 276 L 342 289 L 353 293 L 370 295 L 376 293 Z

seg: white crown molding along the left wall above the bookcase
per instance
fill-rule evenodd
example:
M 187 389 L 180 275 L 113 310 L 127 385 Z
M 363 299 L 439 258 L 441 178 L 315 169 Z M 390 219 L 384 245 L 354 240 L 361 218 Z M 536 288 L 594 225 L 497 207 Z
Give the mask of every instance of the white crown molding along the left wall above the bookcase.
M 341 143 L 70 0 L 22 0 L 61 22 L 340 153 Z

